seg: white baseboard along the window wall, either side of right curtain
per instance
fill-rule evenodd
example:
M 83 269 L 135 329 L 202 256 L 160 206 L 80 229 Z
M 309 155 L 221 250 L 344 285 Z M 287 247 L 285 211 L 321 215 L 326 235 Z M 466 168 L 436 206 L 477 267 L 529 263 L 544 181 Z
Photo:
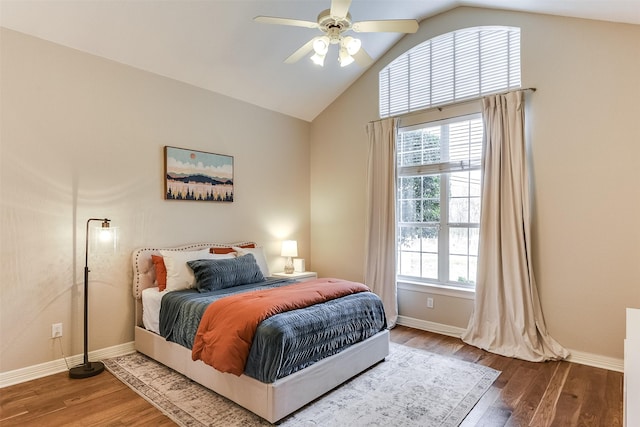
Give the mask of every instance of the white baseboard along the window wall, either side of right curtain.
M 443 325 L 441 323 L 429 322 L 427 320 L 415 319 L 412 317 L 398 316 L 398 325 L 408 326 L 410 328 L 421 329 L 436 334 L 448 335 L 450 337 L 460 338 L 465 331 L 464 328 L 456 326 Z M 614 357 L 601 356 L 599 354 L 585 353 L 569 349 L 569 357 L 567 361 L 578 363 L 580 365 L 593 366 L 595 368 L 607 369 L 610 371 L 624 372 L 624 360 Z

